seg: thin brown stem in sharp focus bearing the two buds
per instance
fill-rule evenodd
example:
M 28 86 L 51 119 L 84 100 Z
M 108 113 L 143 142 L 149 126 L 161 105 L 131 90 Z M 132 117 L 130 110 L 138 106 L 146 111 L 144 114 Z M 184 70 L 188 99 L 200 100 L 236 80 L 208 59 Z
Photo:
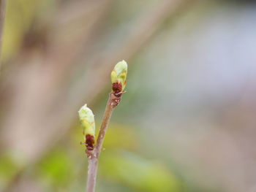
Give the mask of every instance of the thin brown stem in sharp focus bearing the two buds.
M 110 121 L 112 112 L 114 108 L 120 103 L 120 101 L 121 101 L 121 96 L 115 96 L 115 94 L 112 92 L 109 94 L 108 104 L 105 109 L 102 125 L 100 126 L 100 129 L 99 129 L 97 144 L 94 147 L 94 150 L 86 150 L 87 157 L 89 158 L 89 167 L 88 167 L 89 171 L 88 171 L 87 187 L 86 187 L 87 192 L 95 191 L 99 153 L 102 150 L 102 144 L 104 141 L 106 131 L 108 129 L 108 123 Z

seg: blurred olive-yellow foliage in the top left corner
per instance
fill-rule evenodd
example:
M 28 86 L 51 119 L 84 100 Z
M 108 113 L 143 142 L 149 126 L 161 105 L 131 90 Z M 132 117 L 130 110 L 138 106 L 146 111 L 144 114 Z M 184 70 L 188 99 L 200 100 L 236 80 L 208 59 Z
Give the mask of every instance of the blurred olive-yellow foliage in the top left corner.
M 12 58 L 23 43 L 23 37 L 29 31 L 34 21 L 41 18 L 45 12 L 53 9 L 55 1 L 45 0 L 8 0 L 1 60 Z

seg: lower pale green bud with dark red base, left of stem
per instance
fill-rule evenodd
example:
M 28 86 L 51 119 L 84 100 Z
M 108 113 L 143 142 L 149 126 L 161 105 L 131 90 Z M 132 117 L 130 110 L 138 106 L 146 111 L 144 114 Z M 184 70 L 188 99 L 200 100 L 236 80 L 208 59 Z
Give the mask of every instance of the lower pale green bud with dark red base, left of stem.
M 88 150 L 94 149 L 95 142 L 95 120 L 94 113 L 87 104 L 83 105 L 78 111 L 81 126 L 83 128 L 83 137 Z

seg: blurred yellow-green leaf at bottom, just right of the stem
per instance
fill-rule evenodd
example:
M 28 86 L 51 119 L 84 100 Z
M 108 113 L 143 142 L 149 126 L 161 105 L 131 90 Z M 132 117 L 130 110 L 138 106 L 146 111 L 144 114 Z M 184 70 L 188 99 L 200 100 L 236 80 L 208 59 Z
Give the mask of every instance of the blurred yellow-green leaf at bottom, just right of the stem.
M 165 166 L 139 155 L 113 151 L 102 155 L 100 174 L 135 191 L 179 191 L 181 184 Z

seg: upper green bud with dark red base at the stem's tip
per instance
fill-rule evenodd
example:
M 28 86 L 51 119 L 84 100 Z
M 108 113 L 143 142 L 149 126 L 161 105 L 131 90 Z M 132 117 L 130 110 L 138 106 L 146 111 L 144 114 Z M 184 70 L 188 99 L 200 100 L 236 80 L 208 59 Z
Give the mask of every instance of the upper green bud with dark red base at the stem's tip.
M 127 85 L 127 62 L 120 61 L 111 72 L 112 91 L 116 96 L 121 96 Z

